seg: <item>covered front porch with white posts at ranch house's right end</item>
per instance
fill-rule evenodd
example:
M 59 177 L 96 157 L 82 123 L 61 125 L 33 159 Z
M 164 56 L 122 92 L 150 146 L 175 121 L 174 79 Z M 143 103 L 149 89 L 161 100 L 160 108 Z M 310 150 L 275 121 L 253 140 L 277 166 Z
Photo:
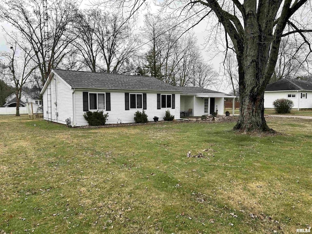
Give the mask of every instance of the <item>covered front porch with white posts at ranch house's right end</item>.
M 225 94 L 181 94 L 180 96 L 180 117 L 210 116 L 214 112 L 217 115 L 225 115 L 224 98 L 235 98 Z M 234 101 L 233 101 L 234 103 Z M 234 113 L 235 106 L 233 105 Z

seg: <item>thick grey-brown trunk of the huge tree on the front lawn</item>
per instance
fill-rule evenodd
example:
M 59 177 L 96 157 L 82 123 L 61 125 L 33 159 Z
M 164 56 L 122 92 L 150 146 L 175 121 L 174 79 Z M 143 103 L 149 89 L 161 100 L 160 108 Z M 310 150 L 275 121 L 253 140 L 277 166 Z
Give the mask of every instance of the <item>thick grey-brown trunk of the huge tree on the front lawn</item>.
M 237 55 L 239 67 L 240 115 L 234 129 L 269 131 L 264 118 L 265 67 L 267 46 L 262 43 L 261 28 L 258 27 L 256 0 L 245 2 L 244 27 L 248 33 L 244 38 L 243 54 Z

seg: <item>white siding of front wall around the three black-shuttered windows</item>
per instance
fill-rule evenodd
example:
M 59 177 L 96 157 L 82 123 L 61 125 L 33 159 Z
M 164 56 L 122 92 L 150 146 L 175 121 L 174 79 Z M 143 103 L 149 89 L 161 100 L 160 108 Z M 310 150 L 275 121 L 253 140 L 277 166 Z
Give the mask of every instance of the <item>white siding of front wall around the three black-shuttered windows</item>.
M 75 102 L 76 102 L 76 126 L 88 125 L 88 122 L 84 119 L 83 114 L 83 99 L 82 92 L 86 92 L 86 90 L 76 90 L 75 91 Z M 96 93 L 96 91 L 88 91 L 89 93 Z M 104 111 L 104 113 L 108 113 L 108 117 L 106 120 L 107 124 L 115 124 L 115 123 L 133 123 L 135 113 L 138 109 L 125 110 L 125 93 L 131 92 L 121 92 L 121 91 L 109 91 L 105 90 L 103 92 L 111 93 L 111 110 Z M 142 92 L 143 93 L 143 92 Z M 174 115 L 175 118 L 179 118 L 180 115 L 180 94 L 176 94 L 176 109 L 172 108 L 163 108 L 157 109 L 157 93 L 144 92 L 146 93 L 146 106 L 147 110 L 144 110 L 148 116 L 149 121 L 154 121 L 153 117 L 159 117 L 159 120 L 163 120 L 165 116 L 166 110 L 170 111 L 171 115 Z M 140 110 L 141 111 L 141 110 Z

